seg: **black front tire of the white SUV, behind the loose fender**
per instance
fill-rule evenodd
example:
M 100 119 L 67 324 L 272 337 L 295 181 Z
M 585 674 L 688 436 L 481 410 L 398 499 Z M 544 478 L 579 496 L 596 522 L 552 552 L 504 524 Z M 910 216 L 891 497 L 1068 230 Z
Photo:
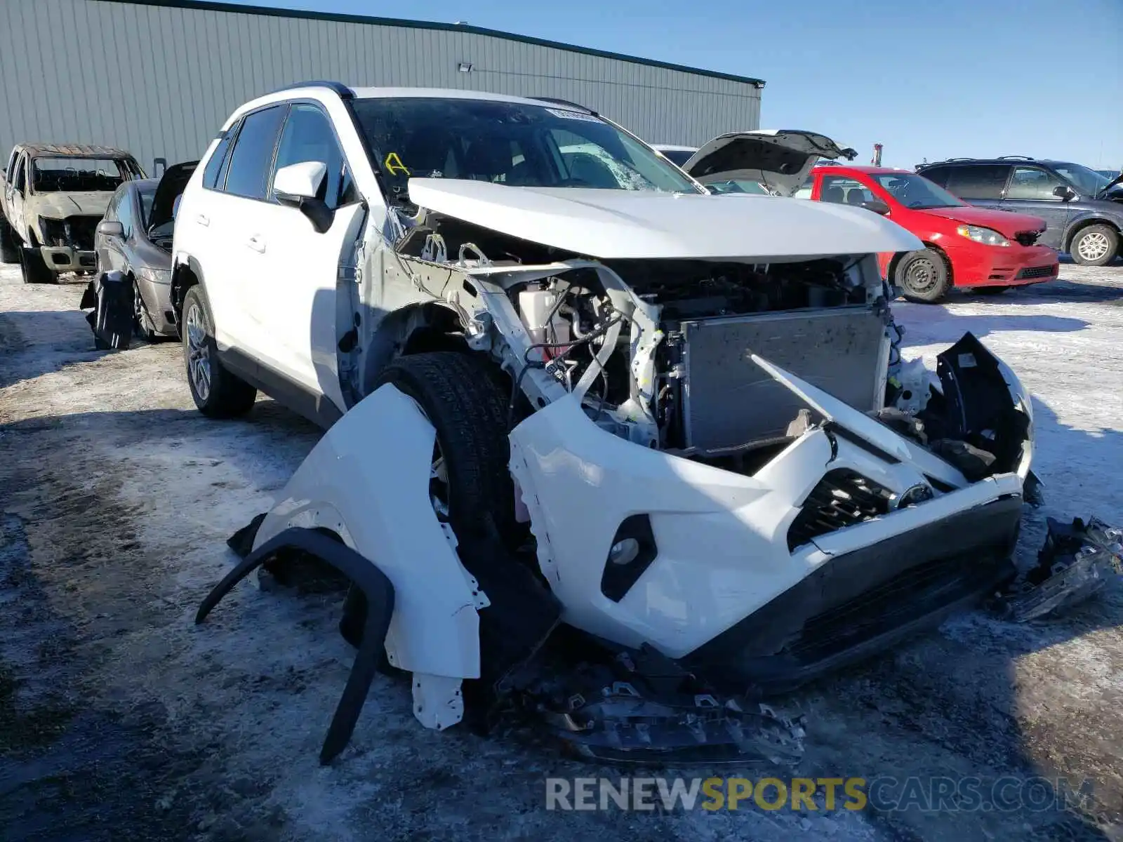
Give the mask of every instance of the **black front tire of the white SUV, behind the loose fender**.
M 508 469 L 506 403 L 481 359 L 457 351 L 401 357 L 375 383 L 393 384 L 409 395 L 437 431 L 437 447 L 448 474 L 448 522 L 462 544 L 519 540 L 514 489 Z

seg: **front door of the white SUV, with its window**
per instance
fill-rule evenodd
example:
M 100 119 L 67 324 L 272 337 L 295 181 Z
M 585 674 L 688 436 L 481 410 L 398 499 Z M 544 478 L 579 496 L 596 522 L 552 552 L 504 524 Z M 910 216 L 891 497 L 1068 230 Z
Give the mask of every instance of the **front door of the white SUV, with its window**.
M 310 218 L 314 213 L 281 203 L 271 190 L 267 209 L 255 214 L 259 225 L 248 240 L 250 263 L 259 268 L 246 273 L 246 283 L 247 290 L 253 287 L 261 329 L 273 337 L 281 373 L 344 412 L 336 289 L 353 283 L 341 276 L 341 268 L 353 262 L 365 212 L 326 111 L 311 102 L 293 103 L 277 144 L 274 175 L 285 166 L 313 162 L 325 170 L 312 201 L 326 207 L 327 227 L 318 230 Z

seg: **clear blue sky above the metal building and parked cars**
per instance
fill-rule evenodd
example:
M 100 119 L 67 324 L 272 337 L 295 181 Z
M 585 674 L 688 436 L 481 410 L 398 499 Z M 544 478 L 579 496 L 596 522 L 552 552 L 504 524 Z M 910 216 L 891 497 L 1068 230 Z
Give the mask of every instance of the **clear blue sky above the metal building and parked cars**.
M 1123 0 L 249 4 L 463 20 L 756 76 L 763 128 L 822 131 L 859 162 L 882 143 L 893 166 L 1032 155 L 1123 167 Z

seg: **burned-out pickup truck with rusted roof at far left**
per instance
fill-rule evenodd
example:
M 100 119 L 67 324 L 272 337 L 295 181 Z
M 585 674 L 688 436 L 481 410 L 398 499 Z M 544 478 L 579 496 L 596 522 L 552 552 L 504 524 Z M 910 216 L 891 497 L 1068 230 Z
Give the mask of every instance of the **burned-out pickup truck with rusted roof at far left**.
M 76 144 L 19 144 L 0 183 L 0 257 L 24 283 L 93 272 L 93 237 L 110 198 L 144 171 L 127 152 Z

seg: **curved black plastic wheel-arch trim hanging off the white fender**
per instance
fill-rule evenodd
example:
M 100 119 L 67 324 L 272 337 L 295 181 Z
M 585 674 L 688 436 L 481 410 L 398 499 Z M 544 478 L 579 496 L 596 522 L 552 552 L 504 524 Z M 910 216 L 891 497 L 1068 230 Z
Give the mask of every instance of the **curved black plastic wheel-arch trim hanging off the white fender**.
M 255 531 L 256 525 L 254 524 Z M 377 671 L 378 659 L 385 647 L 390 619 L 394 613 L 394 586 L 386 575 L 369 559 L 334 538 L 309 529 L 286 529 L 247 555 L 207 595 L 195 623 L 201 623 L 219 601 L 259 565 L 285 550 L 300 550 L 320 559 L 347 576 L 366 597 L 366 623 L 363 642 L 355 653 L 347 685 L 331 717 L 331 725 L 320 749 L 320 763 L 330 763 L 347 745 L 355 723 L 363 710 L 366 694 Z

